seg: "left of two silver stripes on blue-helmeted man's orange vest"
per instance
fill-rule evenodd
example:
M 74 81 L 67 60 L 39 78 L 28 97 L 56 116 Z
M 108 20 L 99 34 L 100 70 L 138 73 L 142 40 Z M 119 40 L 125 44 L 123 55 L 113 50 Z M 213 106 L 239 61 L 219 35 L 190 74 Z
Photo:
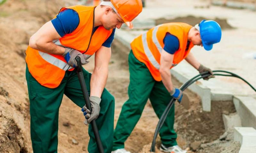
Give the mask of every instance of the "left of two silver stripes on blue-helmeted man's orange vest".
M 147 33 L 142 34 L 142 44 L 145 54 L 148 56 L 148 59 L 151 62 L 151 64 L 153 64 L 156 69 L 160 69 L 159 63 L 156 61 L 155 57 L 152 55 L 151 51 L 148 48 Z

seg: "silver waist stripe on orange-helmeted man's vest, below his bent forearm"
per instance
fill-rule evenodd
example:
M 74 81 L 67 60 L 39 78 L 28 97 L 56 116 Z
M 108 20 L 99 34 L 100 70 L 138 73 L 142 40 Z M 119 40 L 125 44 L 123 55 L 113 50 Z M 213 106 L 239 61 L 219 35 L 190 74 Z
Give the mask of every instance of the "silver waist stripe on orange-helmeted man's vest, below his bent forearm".
M 63 62 L 60 59 L 58 59 L 58 58 L 56 58 L 56 57 L 54 57 L 50 54 L 47 54 L 47 53 L 44 53 L 44 52 L 41 52 L 41 51 L 38 51 L 38 52 L 45 61 L 51 63 L 52 65 L 57 66 L 60 69 L 63 69 L 64 71 L 67 71 L 69 69 L 73 69 L 73 67 L 69 66 L 68 63 Z

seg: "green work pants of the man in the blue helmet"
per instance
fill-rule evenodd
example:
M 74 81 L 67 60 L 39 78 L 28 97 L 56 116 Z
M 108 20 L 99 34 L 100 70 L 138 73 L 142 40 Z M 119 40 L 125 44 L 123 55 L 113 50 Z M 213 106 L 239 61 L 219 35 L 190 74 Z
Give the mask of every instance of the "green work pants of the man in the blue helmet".
M 116 129 L 114 130 L 112 150 L 124 148 L 124 142 L 140 119 L 148 98 L 158 118 L 161 117 L 172 99 L 164 84 L 154 80 L 146 65 L 138 61 L 132 51 L 129 54 L 128 62 L 130 71 L 129 99 L 124 103 L 118 118 Z M 168 147 L 177 145 L 177 134 L 173 129 L 173 124 L 174 106 L 168 113 L 164 125 L 159 132 L 162 144 Z

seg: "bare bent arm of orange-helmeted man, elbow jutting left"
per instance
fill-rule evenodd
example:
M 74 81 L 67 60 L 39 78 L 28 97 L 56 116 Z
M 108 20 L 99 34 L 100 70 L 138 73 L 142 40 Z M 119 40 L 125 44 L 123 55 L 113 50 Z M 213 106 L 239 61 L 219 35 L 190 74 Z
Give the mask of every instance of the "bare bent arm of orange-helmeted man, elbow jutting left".
M 55 30 L 52 22 L 49 21 L 30 38 L 29 46 L 46 53 L 62 55 L 65 52 L 65 48 L 55 45 L 52 42 L 60 38 L 61 36 Z

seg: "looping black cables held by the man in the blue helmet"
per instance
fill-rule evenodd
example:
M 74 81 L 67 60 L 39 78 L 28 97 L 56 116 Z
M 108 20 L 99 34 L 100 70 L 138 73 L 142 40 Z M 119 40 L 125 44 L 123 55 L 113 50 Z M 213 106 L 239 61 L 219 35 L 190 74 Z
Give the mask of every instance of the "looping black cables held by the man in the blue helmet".
M 224 71 L 224 70 L 214 70 L 212 71 L 213 72 L 213 75 L 214 76 L 226 76 L 226 77 L 237 77 L 237 78 L 240 78 L 241 80 L 243 80 L 245 83 L 247 83 L 255 92 L 256 92 L 256 89 L 249 83 L 247 82 L 244 78 L 232 73 L 232 72 L 228 72 L 228 71 Z M 215 72 L 222 72 L 222 73 L 228 73 L 230 75 L 227 75 L 227 74 L 219 74 L 219 73 L 215 73 Z M 180 90 L 181 91 L 184 91 L 186 88 L 188 88 L 188 86 L 190 86 L 191 84 L 193 84 L 194 82 L 196 82 L 197 80 L 201 79 L 201 78 L 204 78 L 204 77 L 208 77 L 208 76 L 211 76 L 211 74 L 209 74 L 209 72 L 203 72 L 201 74 L 198 74 L 196 75 L 195 77 L 191 78 L 190 80 L 188 80 L 185 84 L 183 84 L 181 87 L 180 87 Z M 152 141 L 152 144 L 151 144 L 151 149 L 150 151 L 151 152 L 155 152 L 155 145 L 156 145 L 156 137 L 161 129 L 161 127 L 163 126 L 164 124 L 164 121 L 167 117 L 167 114 L 169 113 L 170 109 L 172 108 L 174 102 L 176 101 L 176 99 L 172 98 L 171 101 L 169 102 L 169 104 L 167 105 L 166 109 L 164 110 L 161 118 L 159 119 L 158 121 L 158 124 L 156 126 L 156 130 L 155 130 L 155 134 L 154 134 L 154 137 L 153 137 L 153 141 Z

